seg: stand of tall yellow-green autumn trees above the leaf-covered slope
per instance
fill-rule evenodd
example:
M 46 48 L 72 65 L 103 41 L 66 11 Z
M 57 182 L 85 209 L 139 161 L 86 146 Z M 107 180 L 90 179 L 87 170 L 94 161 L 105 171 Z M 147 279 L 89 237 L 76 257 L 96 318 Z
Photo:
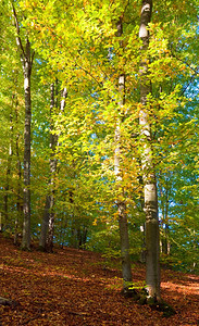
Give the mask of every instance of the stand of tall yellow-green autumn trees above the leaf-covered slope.
M 0 0 L 0 239 L 96 252 L 124 297 L 160 304 L 160 269 L 199 272 L 198 1 Z

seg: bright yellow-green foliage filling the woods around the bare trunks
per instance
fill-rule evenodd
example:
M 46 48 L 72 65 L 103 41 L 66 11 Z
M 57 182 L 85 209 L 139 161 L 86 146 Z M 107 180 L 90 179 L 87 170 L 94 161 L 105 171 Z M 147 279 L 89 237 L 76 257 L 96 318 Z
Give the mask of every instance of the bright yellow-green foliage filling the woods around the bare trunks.
M 18 1 L 21 24 L 36 51 L 33 71 L 32 214 L 38 236 L 48 193 L 50 84 L 58 78 L 60 92 L 67 88 L 64 112 L 54 108 L 53 133 L 59 137 L 55 177 L 55 240 L 78 246 L 87 229 L 88 246 L 119 250 L 116 200 L 126 202 L 130 247 L 138 256 L 140 226 L 142 142 L 138 126 L 141 1 Z M 11 231 L 16 215 L 18 174 L 13 150 L 9 190 L 9 148 L 18 135 L 23 153 L 23 78 L 16 53 L 11 8 L 1 1 L 0 111 L 1 213 L 9 195 Z M 119 18 L 123 36 L 116 35 Z M 146 54 L 152 92 L 148 98 L 152 155 L 159 186 L 161 239 L 166 234 L 170 255 L 192 268 L 198 236 L 198 25 L 197 1 L 153 1 L 150 45 Z M 123 47 L 120 46 L 123 42 Z M 7 51 L 5 51 L 7 49 Z M 119 109 L 119 76 L 126 76 L 125 104 Z M 14 102 L 12 100 L 15 96 Z M 14 105 L 17 99 L 17 118 Z M 59 108 L 59 105 L 58 105 Z M 11 130 L 10 116 L 13 115 Z M 122 181 L 114 175 L 114 131 L 121 121 Z M 123 188 L 123 192 L 121 191 Z M 167 210 L 167 211 L 166 211 Z M 165 211 L 167 215 L 165 215 Z M 165 217 L 166 216 L 166 217 Z M 4 217 L 3 217 L 4 218 Z M 165 218 L 167 218 L 165 221 Z M 4 223 L 4 222 L 3 222 Z M 76 234 L 76 235 L 74 235 Z M 76 238 L 75 238 L 76 237 Z M 74 240 L 75 238 L 75 240 Z M 184 255 L 187 252 L 187 258 Z M 169 256 L 169 258 L 167 258 Z M 181 263 L 177 263 L 181 265 Z M 195 266 L 196 268 L 196 266 Z

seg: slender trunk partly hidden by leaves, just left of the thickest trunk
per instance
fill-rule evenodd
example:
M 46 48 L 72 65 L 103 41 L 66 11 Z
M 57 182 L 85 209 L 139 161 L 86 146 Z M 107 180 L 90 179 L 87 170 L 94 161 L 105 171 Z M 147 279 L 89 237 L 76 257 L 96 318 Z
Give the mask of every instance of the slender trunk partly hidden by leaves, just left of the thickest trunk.
M 121 37 L 123 34 L 122 18 L 117 23 L 117 36 Z M 122 47 L 122 41 L 120 43 Z M 122 73 L 119 76 L 119 110 L 125 104 L 125 75 Z M 128 288 L 132 284 L 132 268 L 130 268 L 130 256 L 129 256 L 129 240 L 128 240 L 128 225 L 127 225 L 127 214 L 126 214 L 126 203 L 124 200 L 124 190 L 121 186 L 122 181 L 122 171 L 121 171 L 121 121 L 117 120 L 115 128 L 115 154 L 114 154 L 114 172 L 115 178 L 119 187 L 119 197 L 122 196 L 122 200 L 117 200 L 119 210 L 119 228 L 120 228 L 120 240 L 121 240 L 121 256 L 122 256 L 122 275 L 123 275 L 123 291 L 125 294 L 129 291 Z

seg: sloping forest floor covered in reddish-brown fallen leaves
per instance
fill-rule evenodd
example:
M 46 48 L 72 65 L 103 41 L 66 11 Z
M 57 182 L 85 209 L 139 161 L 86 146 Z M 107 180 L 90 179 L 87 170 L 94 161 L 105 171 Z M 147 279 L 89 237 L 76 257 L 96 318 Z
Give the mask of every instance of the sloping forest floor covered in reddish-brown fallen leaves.
M 145 268 L 133 266 L 135 284 Z M 54 253 L 21 251 L 0 237 L 0 297 L 15 304 L 0 305 L 0 325 L 199 325 L 199 277 L 162 271 L 162 298 L 176 314 L 140 305 L 121 296 L 119 266 L 100 254 L 55 248 Z

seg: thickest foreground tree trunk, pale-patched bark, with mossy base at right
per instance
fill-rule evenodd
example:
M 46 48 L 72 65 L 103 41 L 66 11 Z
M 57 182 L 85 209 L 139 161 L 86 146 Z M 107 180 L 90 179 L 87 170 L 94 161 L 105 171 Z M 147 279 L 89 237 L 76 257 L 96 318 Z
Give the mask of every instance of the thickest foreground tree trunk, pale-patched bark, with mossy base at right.
M 144 172 L 144 193 L 146 213 L 146 283 L 148 297 L 160 301 L 160 262 L 159 262 L 159 218 L 158 196 L 154 164 L 151 147 L 151 127 L 147 109 L 148 95 L 151 84 L 148 76 L 147 50 L 149 46 L 149 32 L 147 29 L 151 20 L 152 0 L 142 0 L 139 37 L 142 40 L 140 63 L 140 102 L 139 125 L 142 136 L 141 165 Z

